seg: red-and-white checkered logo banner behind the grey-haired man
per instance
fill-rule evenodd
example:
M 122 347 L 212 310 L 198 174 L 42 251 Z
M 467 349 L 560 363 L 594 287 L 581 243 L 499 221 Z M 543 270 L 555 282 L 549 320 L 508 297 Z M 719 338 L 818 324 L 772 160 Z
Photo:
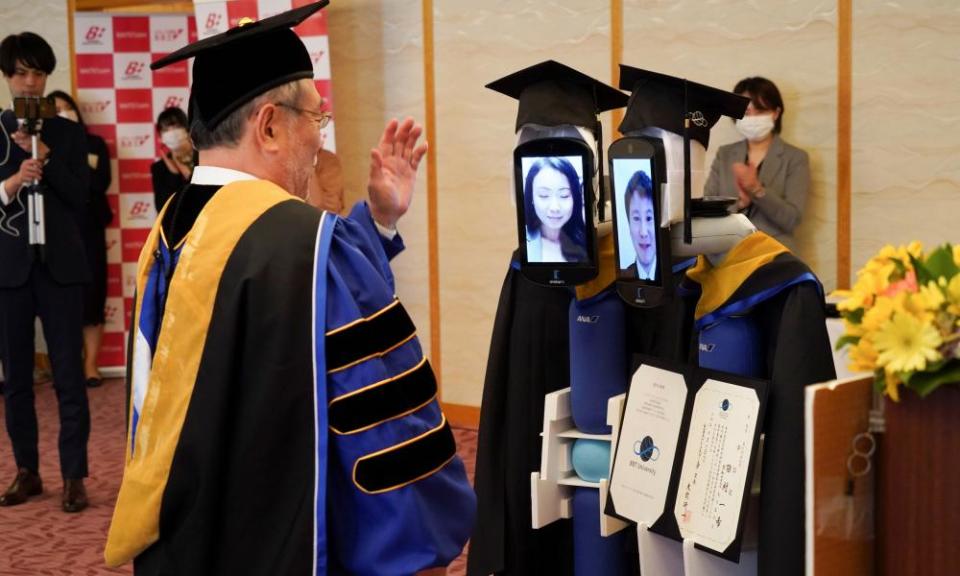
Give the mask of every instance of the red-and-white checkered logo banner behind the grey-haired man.
M 156 71 L 150 70 L 150 63 L 198 37 L 224 32 L 241 18 L 261 20 L 310 1 L 197 2 L 196 17 L 76 13 L 77 103 L 88 129 L 107 141 L 113 172 L 107 200 L 115 217 L 107 229 L 106 325 L 100 366 L 126 363 L 125 333 L 133 312 L 137 259 L 157 215 L 150 176 L 150 165 L 160 157 L 154 123 L 171 106 L 186 112 L 190 95 L 190 61 Z M 295 30 L 310 51 L 317 90 L 332 112 L 325 13 L 312 16 Z M 237 73 L 243 72 L 238 69 Z M 330 122 L 326 129 L 324 147 L 329 150 L 336 144 L 333 125 Z

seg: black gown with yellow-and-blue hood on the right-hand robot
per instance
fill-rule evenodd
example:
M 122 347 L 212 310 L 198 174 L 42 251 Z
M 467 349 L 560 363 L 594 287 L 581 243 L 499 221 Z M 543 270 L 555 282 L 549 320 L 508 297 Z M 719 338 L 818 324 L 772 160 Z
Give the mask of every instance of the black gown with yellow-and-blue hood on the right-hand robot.
M 804 570 L 805 386 L 836 377 L 823 288 L 809 267 L 762 232 L 716 266 L 701 256 L 687 271 L 695 361 L 769 380 L 760 494 L 760 576 Z

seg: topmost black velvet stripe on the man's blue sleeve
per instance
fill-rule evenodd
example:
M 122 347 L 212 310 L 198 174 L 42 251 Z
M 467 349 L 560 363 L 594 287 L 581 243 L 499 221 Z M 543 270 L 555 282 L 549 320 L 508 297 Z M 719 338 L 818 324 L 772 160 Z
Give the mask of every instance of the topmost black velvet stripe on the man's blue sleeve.
M 336 372 L 383 354 L 415 332 L 413 320 L 400 301 L 394 300 L 368 318 L 327 332 L 327 371 Z

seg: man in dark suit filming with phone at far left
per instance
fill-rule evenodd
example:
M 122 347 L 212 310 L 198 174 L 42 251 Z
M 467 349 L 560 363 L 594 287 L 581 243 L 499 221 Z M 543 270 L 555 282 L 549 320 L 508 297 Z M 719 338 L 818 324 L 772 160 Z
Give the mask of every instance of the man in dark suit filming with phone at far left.
M 50 45 L 36 34 L 7 36 L 0 43 L 0 71 L 14 98 L 43 96 L 56 66 Z M 90 412 L 83 381 L 83 285 L 90 281 L 80 215 L 90 190 L 87 139 L 76 122 L 43 120 L 37 159 L 31 158 L 31 137 L 17 129 L 13 115 L 3 113 L 0 153 L 0 350 L 6 369 L 6 427 L 13 445 L 17 476 L 0 495 L 0 506 L 22 504 L 43 492 L 39 475 L 37 415 L 33 394 L 34 318 L 40 317 L 53 365 L 60 414 L 61 506 L 79 512 L 87 506 Z M 46 245 L 29 242 L 29 185 L 44 190 Z

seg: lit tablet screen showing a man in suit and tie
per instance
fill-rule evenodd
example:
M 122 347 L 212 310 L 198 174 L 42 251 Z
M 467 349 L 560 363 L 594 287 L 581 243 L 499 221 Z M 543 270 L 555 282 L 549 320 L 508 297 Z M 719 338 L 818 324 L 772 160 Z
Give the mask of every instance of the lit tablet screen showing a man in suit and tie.
M 649 158 L 614 158 L 619 277 L 660 283 L 653 170 Z

